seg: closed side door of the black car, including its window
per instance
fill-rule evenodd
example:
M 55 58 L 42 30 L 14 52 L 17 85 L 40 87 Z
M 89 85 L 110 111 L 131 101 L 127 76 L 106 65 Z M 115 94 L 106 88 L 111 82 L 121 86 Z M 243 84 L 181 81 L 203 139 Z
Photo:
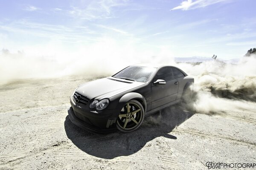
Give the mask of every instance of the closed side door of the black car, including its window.
M 166 81 L 166 84 L 156 85 L 154 82 L 157 79 L 163 79 Z M 176 99 L 178 91 L 178 82 L 177 79 L 173 77 L 173 72 L 171 67 L 161 68 L 151 83 L 152 91 L 152 104 L 151 109 L 157 108 L 159 106 L 165 105 L 169 102 L 172 102 Z

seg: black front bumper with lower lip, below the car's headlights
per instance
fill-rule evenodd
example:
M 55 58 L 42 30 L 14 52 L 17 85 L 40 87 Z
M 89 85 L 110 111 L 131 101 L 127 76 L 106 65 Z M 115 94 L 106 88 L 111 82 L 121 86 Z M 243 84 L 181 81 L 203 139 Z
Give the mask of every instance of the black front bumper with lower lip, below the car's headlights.
M 70 97 L 71 107 L 68 114 L 71 122 L 92 133 L 111 133 L 116 131 L 116 110 L 107 110 L 100 113 L 93 113 L 89 104 L 80 105 Z M 118 113 L 118 112 L 117 112 Z

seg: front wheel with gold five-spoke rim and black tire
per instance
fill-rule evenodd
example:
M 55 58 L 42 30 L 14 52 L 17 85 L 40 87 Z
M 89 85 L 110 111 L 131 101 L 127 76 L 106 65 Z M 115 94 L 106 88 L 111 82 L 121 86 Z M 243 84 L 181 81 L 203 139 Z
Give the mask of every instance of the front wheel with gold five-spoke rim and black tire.
M 117 117 L 116 127 L 122 132 L 136 130 L 143 122 L 145 112 L 143 106 L 137 100 L 130 100 L 125 103 L 119 116 Z

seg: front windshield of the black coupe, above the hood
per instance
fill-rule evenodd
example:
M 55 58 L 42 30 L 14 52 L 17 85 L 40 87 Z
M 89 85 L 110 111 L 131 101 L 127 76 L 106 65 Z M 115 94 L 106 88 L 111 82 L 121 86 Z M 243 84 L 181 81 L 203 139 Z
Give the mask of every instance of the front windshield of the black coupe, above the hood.
M 129 66 L 112 77 L 136 82 L 147 82 L 157 68 Z

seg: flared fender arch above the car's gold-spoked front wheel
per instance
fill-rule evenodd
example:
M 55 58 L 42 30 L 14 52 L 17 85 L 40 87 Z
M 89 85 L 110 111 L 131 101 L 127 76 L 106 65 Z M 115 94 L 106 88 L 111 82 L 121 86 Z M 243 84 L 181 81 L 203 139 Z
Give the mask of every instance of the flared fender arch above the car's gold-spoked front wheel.
M 143 107 L 144 107 L 144 111 L 146 112 L 147 110 L 147 103 L 145 98 L 139 94 L 139 93 L 135 93 L 135 92 L 131 92 L 131 93 L 127 93 L 125 95 L 123 95 L 120 99 L 119 99 L 119 104 L 125 105 L 126 102 L 130 101 L 131 99 L 140 99 L 140 101 L 143 102 Z M 139 102 L 140 102 L 139 101 Z

